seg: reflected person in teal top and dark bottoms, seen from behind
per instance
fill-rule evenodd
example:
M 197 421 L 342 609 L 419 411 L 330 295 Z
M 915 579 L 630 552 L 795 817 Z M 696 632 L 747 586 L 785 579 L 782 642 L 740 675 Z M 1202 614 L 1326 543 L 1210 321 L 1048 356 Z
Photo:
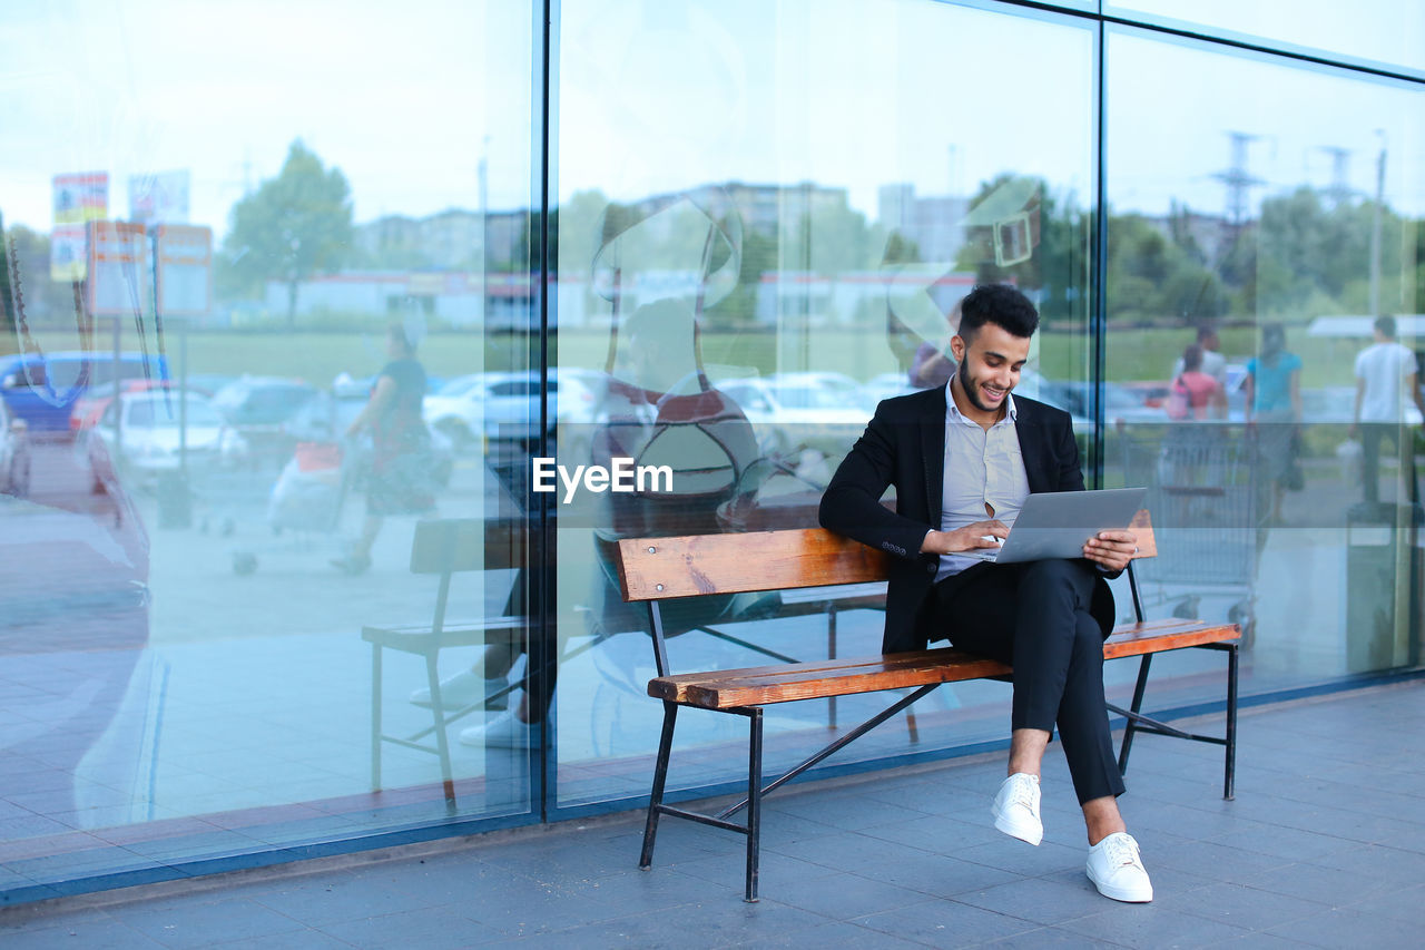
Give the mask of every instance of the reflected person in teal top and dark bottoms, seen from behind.
M 1281 324 L 1263 325 L 1261 351 L 1247 361 L 1247 422 L 1257 434 L 1258 485 L 1271 486 L 1274 523 L 1281 521 L 1281 496 L 1295 478 L 1301 424 L 1301 357 L 1287 352 Z

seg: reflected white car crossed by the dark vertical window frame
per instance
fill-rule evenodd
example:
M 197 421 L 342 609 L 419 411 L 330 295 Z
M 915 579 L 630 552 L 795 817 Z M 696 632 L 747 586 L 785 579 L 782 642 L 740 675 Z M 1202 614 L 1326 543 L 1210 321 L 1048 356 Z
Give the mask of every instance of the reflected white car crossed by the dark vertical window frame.
M 603 402 L 603 375 L 587 369 L 550 369 L 556 424 L 593 424 Z M 522 449 L 539 438 L 539 372 L 476 372 L 446 382 L 426 397 L 426 422 L 457 446 L 476 442 Z

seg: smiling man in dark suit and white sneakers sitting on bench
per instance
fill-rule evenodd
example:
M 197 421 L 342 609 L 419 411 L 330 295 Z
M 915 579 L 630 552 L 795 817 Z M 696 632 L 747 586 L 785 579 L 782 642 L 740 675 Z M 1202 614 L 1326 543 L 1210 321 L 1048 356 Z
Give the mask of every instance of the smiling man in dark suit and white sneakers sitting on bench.
M 1089 832 L 1087 874 L 1114 900 L 1147 902 L 1153 884 L 1116 797 L 1123 779 L 1103 698 L 1103 638 L 1113 626 L 1106 578 L 1136 551 L 1130 531 L 1100 532 L 1083 559 L 995 565 L 1030 492 L 1082 491 L 1069 415 L 1010 395 L 1039 314 L 1009 285 L 976 287 L 950 339 L 949 384 L 886 399 L 836 469 L 822 526 L 896 555 L 882 649 L 955 646 L 1015 665 L 1009 777 L 995 827 L 1039 844 L 1039 772 L 1054 726 Z M 888 486 L 896 509 L 881 505 Z

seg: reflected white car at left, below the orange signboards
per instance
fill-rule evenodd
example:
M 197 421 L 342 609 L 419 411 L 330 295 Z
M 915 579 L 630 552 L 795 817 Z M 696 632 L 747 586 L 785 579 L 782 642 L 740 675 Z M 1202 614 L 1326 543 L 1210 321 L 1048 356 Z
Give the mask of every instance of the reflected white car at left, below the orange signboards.
M 115 412 L 123 409 L 115 431 Z M 180 429 L 180 421 L 187 422 Z M 94 432 L 104 441 L 120 472 L 152 481 L 180 465 L 180 448 L 190 471 L 234 466 L 248 454 L 247 441 L 205 397 L 190 392 L 187 408 L 175 392 L 134 392 L 110 402 Z M 117 445 L 117 448 L 115 448 Z

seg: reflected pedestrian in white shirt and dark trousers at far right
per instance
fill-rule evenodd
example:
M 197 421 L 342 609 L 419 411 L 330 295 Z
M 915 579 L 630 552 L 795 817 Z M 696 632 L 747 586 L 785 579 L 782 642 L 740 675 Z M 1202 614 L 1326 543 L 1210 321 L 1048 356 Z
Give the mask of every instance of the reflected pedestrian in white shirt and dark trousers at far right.
M 1419 499 L 1415 485 L 1415 434 L 1402 427 L 1406 399 L 1425 412 L 1415 385 L 1415 354 L 1395 342 L 1395 318 L 1378 317 L 1375 342 L 1355 358 L 1355 421 L 1351 425 L 1351 435 L 1361 436 L 1361 475 L 1368 502 L 1381 499 L 1381 441 L 1387 438 L 1399 455 L 1409 499 Z

